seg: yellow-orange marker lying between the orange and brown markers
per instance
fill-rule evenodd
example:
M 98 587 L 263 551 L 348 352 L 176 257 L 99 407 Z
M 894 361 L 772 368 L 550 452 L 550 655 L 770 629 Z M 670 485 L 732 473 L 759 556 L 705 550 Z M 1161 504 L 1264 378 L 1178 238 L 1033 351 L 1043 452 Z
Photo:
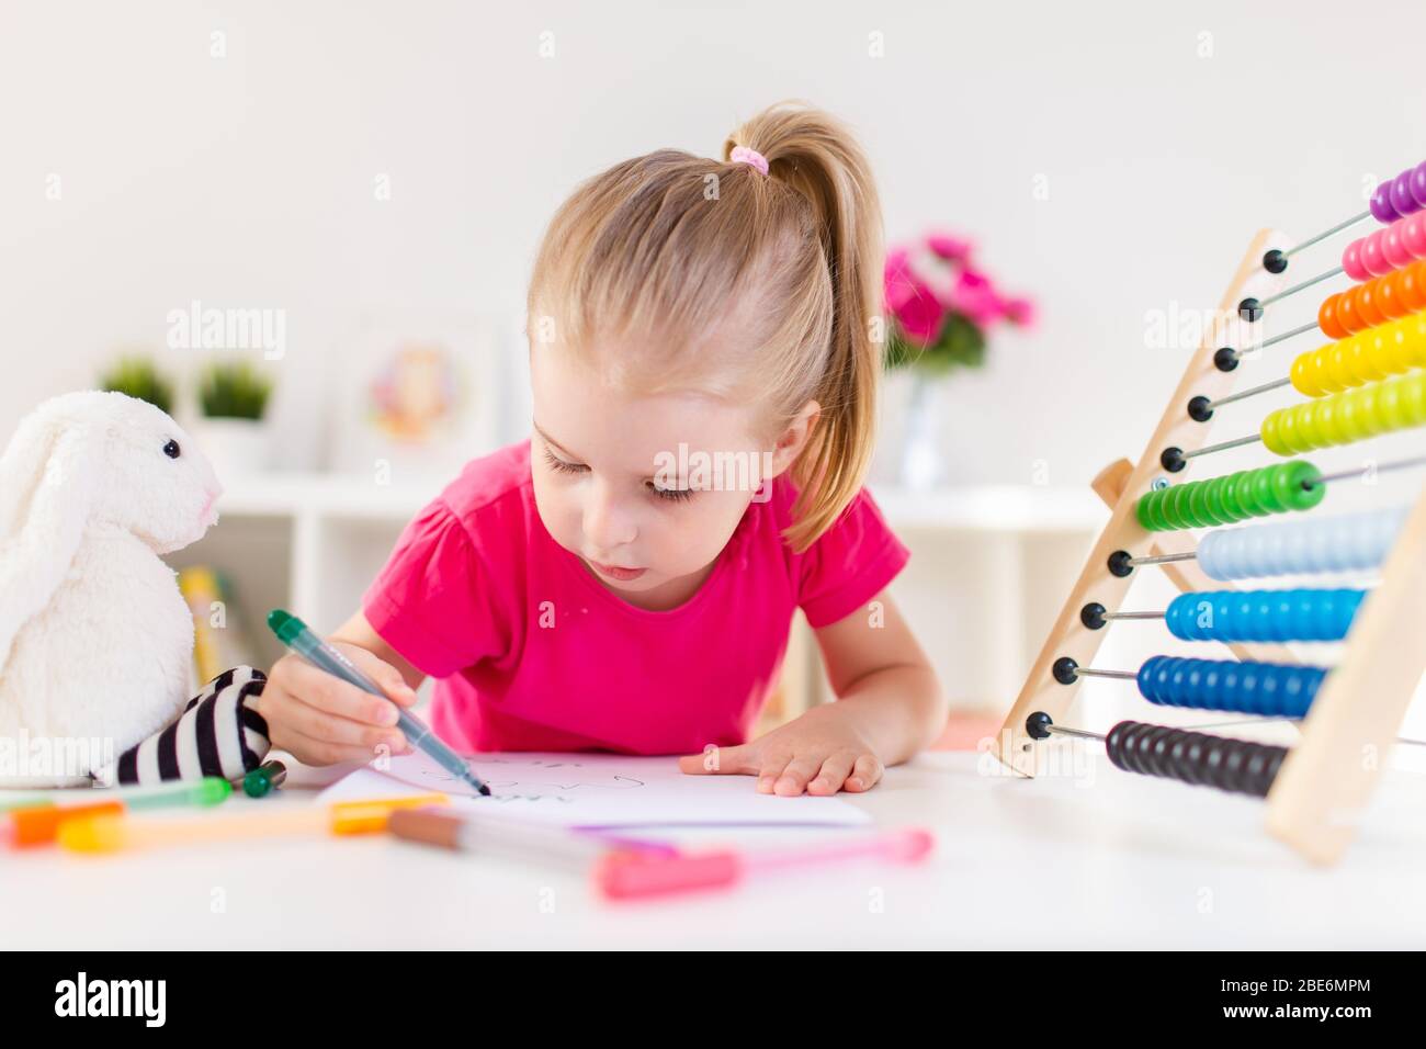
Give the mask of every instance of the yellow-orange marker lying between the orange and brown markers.
M 279 833 L 372 833 L 386 829 L 394 809 L 445 805 L 443 794 L 419 794 L 411 798 L 379 798 L 338 802 L 314 808 L 281 809 L 264 806 L 261 812 L 198 819 L 135 819 L 121 815 L 96 815 L 64 821 L 58 841 L 74 852 L 117 852 L 148 845 L 188 845 L 191 842 L 265 838 Z

